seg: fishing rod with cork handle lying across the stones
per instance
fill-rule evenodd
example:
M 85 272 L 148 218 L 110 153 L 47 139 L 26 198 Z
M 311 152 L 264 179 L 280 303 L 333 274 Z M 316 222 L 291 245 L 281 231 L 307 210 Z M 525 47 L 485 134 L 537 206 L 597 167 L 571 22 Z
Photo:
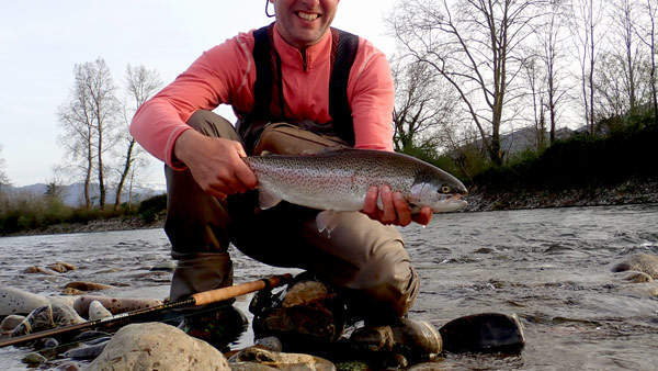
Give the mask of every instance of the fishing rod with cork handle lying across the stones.
M 13 346 L 13 345 L 22 344 L 22 342 L 26 342 L 26 341 L 32 341 L 32 340 L 36 340 L 36 339 L 41 339 L 41 338 L 45 338 L 45 337 L 49 337 L 49 336 L 65 335 L 65 334 L 73 333 L 73 331 L 112 325 L 112 324 L 116 324 L 118 322 L 129 322 L 132 318 L 143 316 L 145 314 L 154 314 L 154 313 L 163 312 L 167 310 L 173 310 L 173 308 L 185 307 L 185 306 L 202 306 L 202 305 L 206 305 L 206 304 L 217 303 L 217 302 L 229 300 L 229 299 L 232 299 L 236 296 L 245 295 L 245 294 L 248 294 L 248 293 L 251 293 L 254 291 L 281 286 L 281 285 L 290 282 L 292 278 L 293 277 L 290 273 L 272 276 L 268 279 L 256 280 L 256 281 L 236 284 L 236 285 L 228 286 L 228 288 L 222 288 L 222 289 L 215 289 L 215 290 L 211 290 L 211 291 L 200 292 L 200 293 L 193 294 L 189 299 L 170 302 L 170 303 L 164 303 L 161 305 L 151 306 L 151 307 L 147 307 L 147 308 L 135 310 L 135 311 L 131 311 L 131 312 L 126 312 L 126 313 L 121 313 L 121 314 L 113 315 L 111 317 L 105 317 L 105 318 L 95 319 L 95 321 L 89 321 L 89 322 L 84 322 L 84 323 L 76 324 L 76 325 L 50 328 L 50 329 L 46 329 L 43 331 L 34 333 L 34 334 L 16 336 L 13 338 L 0 340 L 0 348 L 7 347 L 7 346 Z

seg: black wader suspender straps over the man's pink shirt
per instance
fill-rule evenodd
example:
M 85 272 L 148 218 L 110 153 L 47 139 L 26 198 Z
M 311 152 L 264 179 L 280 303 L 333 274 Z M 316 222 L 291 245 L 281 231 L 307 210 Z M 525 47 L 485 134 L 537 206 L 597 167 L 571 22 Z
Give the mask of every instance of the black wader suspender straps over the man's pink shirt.
M 359 49 L 359 36 L 331 27 L 331 76 L 329 79 L 330 126 L 341 139 L 354 145 L 354 125 L 348 101 L 348 79 Z M 281 57 L 274 49 L 274 23 L 253 32 L 256 82 L 253 110 L 241 117 L 237 130 L 251 154 L 263 127 L 285 119 L 285 101 L 281 77 Z

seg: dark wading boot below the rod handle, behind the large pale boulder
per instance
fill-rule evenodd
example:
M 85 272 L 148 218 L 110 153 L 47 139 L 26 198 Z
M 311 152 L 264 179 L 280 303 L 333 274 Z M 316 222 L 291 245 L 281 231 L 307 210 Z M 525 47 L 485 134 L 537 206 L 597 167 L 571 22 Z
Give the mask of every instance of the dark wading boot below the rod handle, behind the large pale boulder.
M 226 351 L 227 346 L 245 333 L 249 321 L 240 310 L 232 305 L 222 305 L 186 313 L 179 328 Z

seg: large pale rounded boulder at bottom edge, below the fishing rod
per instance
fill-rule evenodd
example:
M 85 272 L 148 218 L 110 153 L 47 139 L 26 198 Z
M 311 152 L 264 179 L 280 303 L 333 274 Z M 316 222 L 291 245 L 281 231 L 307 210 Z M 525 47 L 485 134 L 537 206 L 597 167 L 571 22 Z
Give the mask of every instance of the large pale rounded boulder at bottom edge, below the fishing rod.
M 207 342 L 161 323 L 127 325 L 87 369 L 230 370 L 224 355 Z

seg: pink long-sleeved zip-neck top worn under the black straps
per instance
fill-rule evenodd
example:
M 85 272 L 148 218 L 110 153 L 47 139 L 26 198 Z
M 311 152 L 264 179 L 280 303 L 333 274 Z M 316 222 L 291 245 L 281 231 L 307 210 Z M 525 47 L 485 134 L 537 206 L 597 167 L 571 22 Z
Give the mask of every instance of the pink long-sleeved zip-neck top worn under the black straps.
M 181 169 L 181 164 L 173 160 L 173 146 L 184 131 L 191 130 L 185 122 L 195 111 L 213 110 L 224 103 L 232 105 L 235 112 L 251 112 L 256 81 L 253 45 L 250 31 L 203 53 L 186 71 L 139 108 L 131 134 L 150 154 Z M 281 56 L 286 116 L 329 122 L 331 33 L 306 48 L 306 69 L 302 52 L 287 44 L 277 31 L 274 47 Z M 362 37 L 348 80 L 348 101 L 354 123 L 354 147 L 393 150 L 390 68 L 384 54 Z

